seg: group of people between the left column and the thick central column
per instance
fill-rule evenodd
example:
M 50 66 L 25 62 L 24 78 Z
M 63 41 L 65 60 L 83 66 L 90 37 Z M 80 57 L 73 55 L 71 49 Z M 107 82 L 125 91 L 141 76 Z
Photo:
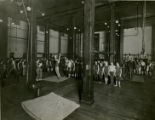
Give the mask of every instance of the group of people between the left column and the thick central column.
M 79 78 L 82 70 L 79 59 L 73 60 L 60 55 L 49 59 L 40 58 L 36 61 L 36 66 L 37 80 L 41 80 L 46 73 L 54 73 L 58 79 L 62 76 Z

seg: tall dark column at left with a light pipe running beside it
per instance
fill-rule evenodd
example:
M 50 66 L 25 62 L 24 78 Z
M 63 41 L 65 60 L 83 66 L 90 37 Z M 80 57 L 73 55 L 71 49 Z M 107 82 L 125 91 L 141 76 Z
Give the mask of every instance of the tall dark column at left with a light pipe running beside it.
M 29 6 L 31 11 L 28 12 L 30 21 L 29 32 L 28 32 L 28 79 L 27 84 L 32 87 L 32 84 L 36 81 L 36 12 L 35 12 L 35 1 L 30 0 Z

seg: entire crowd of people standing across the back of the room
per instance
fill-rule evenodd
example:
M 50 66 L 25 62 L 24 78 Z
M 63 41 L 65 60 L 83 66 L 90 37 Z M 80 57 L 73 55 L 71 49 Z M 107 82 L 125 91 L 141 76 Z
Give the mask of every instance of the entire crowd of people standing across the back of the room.
M 123 63 L 95 60 L 93 65 L 93 79 L 95 81 L 104 82 L 121 87 L 123 78 L 132 79 L 134 74 L 152 76 L 154 62 L 148 59 L 125 58 Z M 26 59 L 8 58 L 6 61 L 0 60 L 0 78 L 2 83 L 11 74 L 15 76 L 17 81 L 20 76 L 26 76 L 27 63 Z M 80 59 L 69 59 L 61 55 L 53 55 L 49 59 L 38 58 L 36 61 L 36 80 L 42 80 L 46 73 L 61 76 L 82 78 L 83 62 Z M 54 73 L 54 74 L 51 74 Z

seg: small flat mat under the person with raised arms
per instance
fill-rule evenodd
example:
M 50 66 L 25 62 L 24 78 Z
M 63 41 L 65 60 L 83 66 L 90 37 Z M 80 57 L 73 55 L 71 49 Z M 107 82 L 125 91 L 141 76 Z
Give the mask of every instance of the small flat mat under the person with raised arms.
M 61 77 L 61 78 L 58 79 L 57 76 L 50 76 L 50 77 L 44 78 L 43 80 L 49 81 L 49 82 L 56 82 L 56 83 L 59 83 L 59 82 L 65 81 L 65 80 L 67 80 L 67 79 L 68 79 L 67 77 Z

